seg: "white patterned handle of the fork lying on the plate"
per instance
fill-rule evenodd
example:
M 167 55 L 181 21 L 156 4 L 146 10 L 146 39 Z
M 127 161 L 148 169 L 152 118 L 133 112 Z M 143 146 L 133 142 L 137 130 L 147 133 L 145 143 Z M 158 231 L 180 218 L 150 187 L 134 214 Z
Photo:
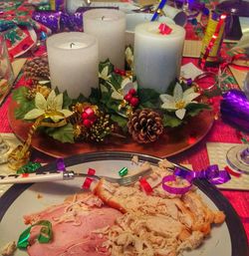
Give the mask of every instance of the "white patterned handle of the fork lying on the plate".
M 56 173 L 23 173 L 23 174 L 10 174 L 7 176 L 0 175 L 0 184 L 17 184 L 17 183 L 36 183 L 47 182 L 65 179 L 64 172 Z

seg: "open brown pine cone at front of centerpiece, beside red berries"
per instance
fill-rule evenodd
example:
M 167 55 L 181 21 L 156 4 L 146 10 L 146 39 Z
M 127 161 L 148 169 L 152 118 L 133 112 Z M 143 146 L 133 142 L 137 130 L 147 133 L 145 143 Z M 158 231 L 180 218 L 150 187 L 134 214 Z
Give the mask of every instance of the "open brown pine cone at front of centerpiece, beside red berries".
M 155 141 L 163 131 L 159 114 L 149 109 L 136 110 L 129 118 L 127 128 L 138 143 Z

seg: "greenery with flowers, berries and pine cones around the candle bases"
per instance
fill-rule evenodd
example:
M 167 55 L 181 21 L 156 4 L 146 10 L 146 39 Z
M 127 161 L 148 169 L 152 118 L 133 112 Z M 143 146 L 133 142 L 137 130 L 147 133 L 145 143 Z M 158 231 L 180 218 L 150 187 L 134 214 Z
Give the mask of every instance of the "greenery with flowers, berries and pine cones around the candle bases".
M 70 143 L 105 143 L 112 136 L 149 143 L 168 128 L 184 126 L 210 109 L 202 103 L 196 87 L 184 82 L 171 83 L 165 94 L 140 88 L 130 71 L 131 49 L 125 54 L 128 71 L 115 69 L 109 60 L 100 63 L 99 88 L 92 88 L 88 98 L 81 94 L 77 99 L 51 88 L 46 57 L 29 61 L 24 72 L 31 85 L 13 92 L 18 104 L 15 118 L 33 124 L 24 147 L 28 148 L 34 132 Z

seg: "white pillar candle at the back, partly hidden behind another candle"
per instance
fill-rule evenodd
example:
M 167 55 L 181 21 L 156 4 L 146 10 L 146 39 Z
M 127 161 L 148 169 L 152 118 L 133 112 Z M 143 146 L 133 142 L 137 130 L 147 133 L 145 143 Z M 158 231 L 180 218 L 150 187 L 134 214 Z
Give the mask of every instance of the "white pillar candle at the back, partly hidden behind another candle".
M 83 15 L 84 32 L 99 41 L 100 61 L 124 69 L 125 14 L 119 10 L 94 9 Z

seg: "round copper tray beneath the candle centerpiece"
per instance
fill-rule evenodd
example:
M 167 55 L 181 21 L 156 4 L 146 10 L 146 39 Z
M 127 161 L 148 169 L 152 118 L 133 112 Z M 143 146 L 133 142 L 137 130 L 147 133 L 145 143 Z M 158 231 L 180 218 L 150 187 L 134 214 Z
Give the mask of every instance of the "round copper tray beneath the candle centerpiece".
M 17 103 L 11 101 L 9 105 L 8 118 L 13 132 L 21 139 L 26 140 L 31 123 L 16 120 L 14 111 Z M 35 133 L 32 138 L 32 146 L 39 151 L 54 157 L 67 157 L 78 153 L 94 151 L 129 151 L 151 154 L 157 157 L 175 155 L 186 150 L 200 141 L 213 125 L 213 114 L 208 111 L 202 112 L 197 117 L 192 118 L 188 125 L 181 128 L 168 129 L 166 134 L 152 143 L 139 144 L 130 138 L 112 137 L 105 143 L 62 143 L 43 133 Z M 193 141 L 189 137 L 193 136 Z

